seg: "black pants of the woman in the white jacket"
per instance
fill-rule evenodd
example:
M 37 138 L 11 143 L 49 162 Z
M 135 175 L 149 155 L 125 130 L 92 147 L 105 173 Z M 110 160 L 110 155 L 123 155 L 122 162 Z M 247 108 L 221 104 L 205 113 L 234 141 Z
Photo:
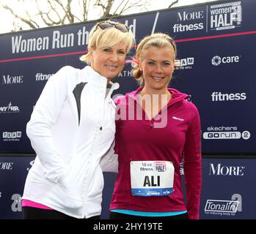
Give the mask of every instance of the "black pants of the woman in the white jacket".
M 25 206 L 23 209 L 23 219 L 76 219 L 59 211 L 46 210 Z M 92 216 L 88 219 L 100 219 L 100 216 Z

